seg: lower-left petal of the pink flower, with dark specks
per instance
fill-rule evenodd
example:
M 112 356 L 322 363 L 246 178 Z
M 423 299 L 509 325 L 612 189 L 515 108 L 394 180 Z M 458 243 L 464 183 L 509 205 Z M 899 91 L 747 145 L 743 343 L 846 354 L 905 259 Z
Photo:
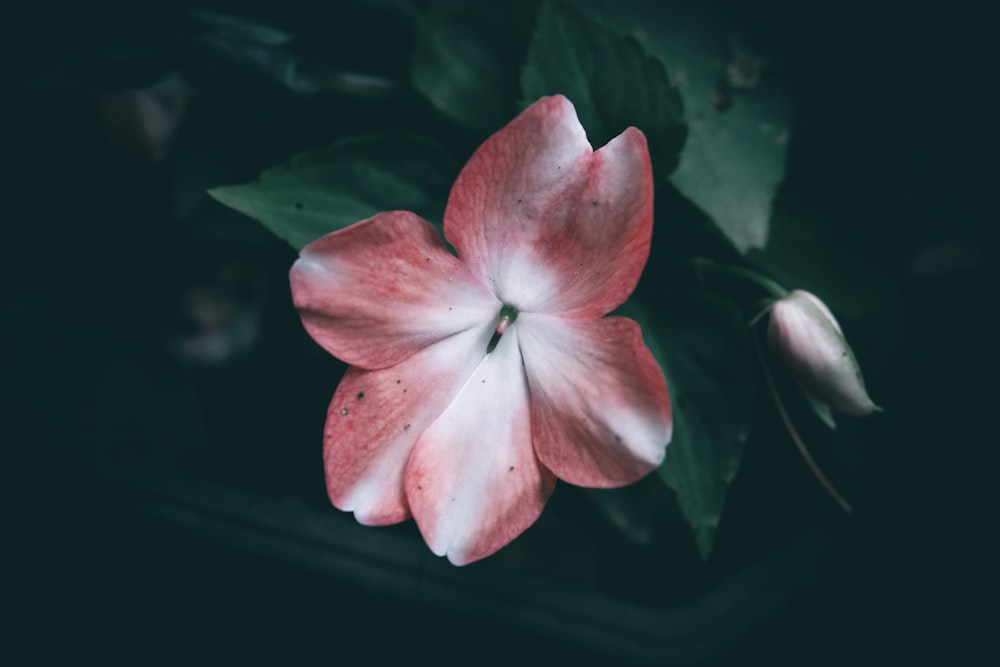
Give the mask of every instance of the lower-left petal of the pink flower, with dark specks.
M 352 366 L 330 402 L 323 458 L 331 502 L 360 523 L 409 518 L 403 486 L 417 438 L 479 365 L 492 327 L 463 332 L 376 371 Z

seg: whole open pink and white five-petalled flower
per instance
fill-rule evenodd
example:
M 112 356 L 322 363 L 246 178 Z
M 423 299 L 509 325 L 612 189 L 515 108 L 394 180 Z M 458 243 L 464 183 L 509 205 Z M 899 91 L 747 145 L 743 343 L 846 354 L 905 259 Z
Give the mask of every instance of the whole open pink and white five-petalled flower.
M 557 96 L 459 174 L 444 215 L 458 257 L 406 211 L 303 248 L 302 321 L 351 364 L 326 423 L 333 504 L 367 525 L 412 516 L 462 565 L 534 523 L 556 478 L 613 487 L 656 468 L 663 374 L 635 322 L 604 317 L 635 288 L 652 224 L 645 137 L 594 152 Z

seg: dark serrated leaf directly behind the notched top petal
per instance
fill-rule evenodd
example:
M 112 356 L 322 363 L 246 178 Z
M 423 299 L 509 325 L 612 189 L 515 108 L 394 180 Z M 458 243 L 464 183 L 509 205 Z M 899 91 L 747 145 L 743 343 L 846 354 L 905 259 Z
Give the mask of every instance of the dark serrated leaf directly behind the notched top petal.
M 546 2 L 521 76 L 523 104 L 563 94 L 593 146 L 634 125 L 646 135 L 658 180 L 678 163 L 687 128 L 667 71 L 632 37 L 619 36 L 561 2 Z

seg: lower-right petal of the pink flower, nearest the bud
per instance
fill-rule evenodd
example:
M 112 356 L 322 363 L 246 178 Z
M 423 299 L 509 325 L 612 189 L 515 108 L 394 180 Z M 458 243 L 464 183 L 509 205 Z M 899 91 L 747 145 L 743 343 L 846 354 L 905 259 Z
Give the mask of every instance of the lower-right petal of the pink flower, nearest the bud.
M 660 465 L 673 422 L 667 384 L 623 317 L 522 315 L 521 354 L 538 458 L 562 480 L 629 484 Z

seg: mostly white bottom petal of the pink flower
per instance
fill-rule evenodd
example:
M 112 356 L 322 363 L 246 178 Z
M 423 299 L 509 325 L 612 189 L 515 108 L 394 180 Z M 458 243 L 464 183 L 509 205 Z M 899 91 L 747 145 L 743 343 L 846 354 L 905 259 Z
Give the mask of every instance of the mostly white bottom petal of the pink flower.
M 489 556 L 541 514 L 555 478 L 531 446 L 528 388 L 510 331 L 417 442 L 406 496 L 428 546 L 455 565 Z

